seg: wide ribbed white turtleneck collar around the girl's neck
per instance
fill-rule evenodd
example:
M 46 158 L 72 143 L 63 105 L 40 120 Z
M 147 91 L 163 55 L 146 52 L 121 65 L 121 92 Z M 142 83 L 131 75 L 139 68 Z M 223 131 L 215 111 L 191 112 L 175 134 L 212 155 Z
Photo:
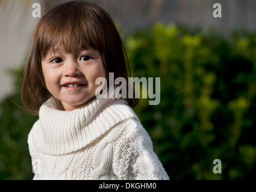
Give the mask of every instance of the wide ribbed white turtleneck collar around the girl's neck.
M 89 145 L 128 118 L 137 116 L 123 99 L 94 98 L 72 111 L 55 109 L 49 99 L 40 107 L 32 136 L 39 151 L 45 154 L 69 154 Z

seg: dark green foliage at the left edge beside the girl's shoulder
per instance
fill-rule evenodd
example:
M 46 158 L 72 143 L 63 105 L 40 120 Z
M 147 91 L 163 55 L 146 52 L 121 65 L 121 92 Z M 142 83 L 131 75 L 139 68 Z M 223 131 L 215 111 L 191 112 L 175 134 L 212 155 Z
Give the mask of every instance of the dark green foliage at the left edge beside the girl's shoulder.
M 22 69 L 13 71 L 18 86 Z M 19 90 L 19 89 L 17 89 Z M 28 133 L 36 117 L 20 110 L 19 91 L 0 103 L 0 179 L 31 179 Z

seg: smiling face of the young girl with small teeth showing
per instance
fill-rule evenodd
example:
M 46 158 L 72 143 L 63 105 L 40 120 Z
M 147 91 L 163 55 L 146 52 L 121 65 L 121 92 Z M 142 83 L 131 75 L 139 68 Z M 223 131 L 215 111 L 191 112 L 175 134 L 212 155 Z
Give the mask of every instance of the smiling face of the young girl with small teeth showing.
M 49 51 L 42 61 L 48 91 L 61 101 L 65 110 L 73 110 L 95 97 L 98 77 L 106 78 L 101 54 L 96 49 L 65 53 Z

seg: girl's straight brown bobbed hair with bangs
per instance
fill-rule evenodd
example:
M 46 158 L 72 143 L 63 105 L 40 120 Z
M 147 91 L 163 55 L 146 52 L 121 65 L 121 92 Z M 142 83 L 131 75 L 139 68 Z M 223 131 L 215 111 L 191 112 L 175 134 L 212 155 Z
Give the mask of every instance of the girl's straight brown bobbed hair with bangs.
M 48 11 L 34 30 L 21 85 L 22 103 L 29 112 L 38 114 L 40 106 L 51 97 L 42 60 L 56 46 L 66 53 L 92 47 L 101 53 L 107 76 L 113 72 L 114 79 L 124 77 L 128 82 L 130 66 L 125 48 L 108 13 L 89 2 L 65 2 Z M 139 101 L 128 95 L 126 100 L 131 107 Z

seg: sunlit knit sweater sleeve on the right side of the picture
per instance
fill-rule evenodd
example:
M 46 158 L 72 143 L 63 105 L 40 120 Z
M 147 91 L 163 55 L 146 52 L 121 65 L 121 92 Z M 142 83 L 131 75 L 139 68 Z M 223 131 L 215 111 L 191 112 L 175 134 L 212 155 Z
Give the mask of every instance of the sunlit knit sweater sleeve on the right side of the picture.
M 169 176 L 153 151 L 152 141 L 137 120 L 117 140 L 113 170 L 119 179 L 168 180 Z

